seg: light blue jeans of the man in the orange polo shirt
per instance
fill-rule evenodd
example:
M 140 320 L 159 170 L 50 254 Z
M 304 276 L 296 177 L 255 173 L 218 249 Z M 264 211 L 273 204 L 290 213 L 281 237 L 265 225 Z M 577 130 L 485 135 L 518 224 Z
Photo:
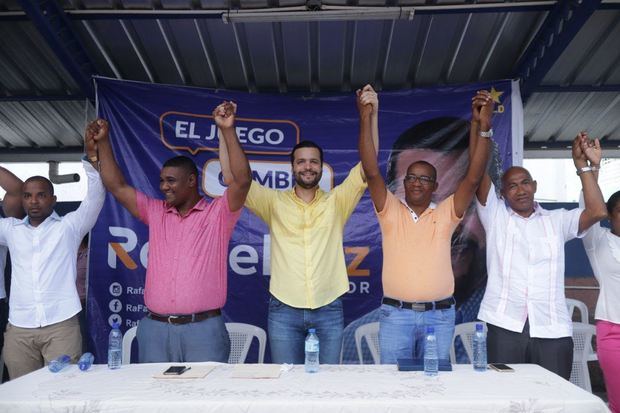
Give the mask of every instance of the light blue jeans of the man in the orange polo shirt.
M 414 311 L 382 304 L 379 308 L 381 364 L 396 364 L 399 358 L 423 358 L 426 327 L 435 327 L 437 354 L 450 358 L 454 336 L 454 304 L 444 310 Z

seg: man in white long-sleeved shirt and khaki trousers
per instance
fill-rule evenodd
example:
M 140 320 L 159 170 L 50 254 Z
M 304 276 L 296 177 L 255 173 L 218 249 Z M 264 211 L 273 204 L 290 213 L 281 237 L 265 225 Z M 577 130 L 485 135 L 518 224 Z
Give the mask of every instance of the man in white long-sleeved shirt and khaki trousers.
M 9 324 L 3 357 L 9 377 L 37 370 L 68 354 L 73 362 L 81 353 L 77 314 L 81 310 L 75 287 L 77 250 L 95 224 L 105 199 L 94 146 L 87 148 L 84 169 L 86 198 L 64 217 L 54 212 L 52 183 L 42 176 L 28 178 L 22 187 L 26 218 L 0 219 L 0 244 L 11 254 Z

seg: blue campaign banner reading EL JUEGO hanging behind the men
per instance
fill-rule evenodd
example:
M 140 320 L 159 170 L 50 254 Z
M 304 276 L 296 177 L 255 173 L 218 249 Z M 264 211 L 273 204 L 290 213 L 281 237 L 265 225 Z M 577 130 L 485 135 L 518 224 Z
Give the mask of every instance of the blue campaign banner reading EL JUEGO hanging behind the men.
M 325 190 L 342 182 L 359 161 L 354 93 L 249 94 L 103 78 L 96 79 L 96 86 L 98 115 L 110 123 L 113 150 L 127 182 L 152 197 L 161 198 L 160 168 L 176 155 L 195 161 L 206 197 L 223 193 L 211 112 L 224 100 L 238 105 L 237 135 L 253 178 L 263 185 L 292 187 L 289 153 L 300 140 L 323 147 L 320 185 Z M 490 90 L 496 101 L 492 175 L 521 162 L 521 153 L 513 149 L 522 148 L 523 122 L 515 82 L 381 92 L 379 160 L 391 190 L 403 194 L 402 178 L 417 159 L 438 169 L 437 200 L 456 189 L 467 167 L 471 97 L 480 89 Z M 228 250 L 227 321 L 266 329 L 269 245 L 267 226 L 244 209 Z M 344 248 L 350 286 L 344 296 L 346 325 L 376 309 L 382 296 L 381 232 L 368 193 L 345 227 Z M 486 281 L 484 236 L 473 209 L 453 239 L 453 255 L 459 321 L 468 321 L 475 317 Z M 147 257 L 147 227 L 108 195 L 92 232 L 89 258 L 89 347 L 97 360 L 106 360 L 113 321 L 126 331 L 145 315 Z

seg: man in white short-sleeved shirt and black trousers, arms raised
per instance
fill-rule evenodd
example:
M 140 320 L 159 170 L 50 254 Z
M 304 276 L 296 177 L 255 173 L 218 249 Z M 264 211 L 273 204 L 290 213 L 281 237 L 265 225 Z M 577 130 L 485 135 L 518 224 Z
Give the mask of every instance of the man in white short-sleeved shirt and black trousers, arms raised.
M 564 244 L 606 215 L 587 148 L 585 135 L 578 135 L 572 156 L 585 209 L 541 208 L 534 202 L 536 181 L 518 166 L 504 173 L 501 197 L 488 175 L 478 189 L 488 272 L 478 318 L 489 328 L 491 363 L 535 363 L 570 378 L 573 340 L 564 296 Z

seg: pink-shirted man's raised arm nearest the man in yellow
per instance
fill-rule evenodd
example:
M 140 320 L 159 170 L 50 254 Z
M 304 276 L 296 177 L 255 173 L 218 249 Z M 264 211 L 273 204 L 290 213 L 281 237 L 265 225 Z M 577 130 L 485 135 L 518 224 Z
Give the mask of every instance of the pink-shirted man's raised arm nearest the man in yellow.
M 235 130 L 237 105 L 224 102 L 213 111 L 215 124 L 221 131 L 220 166 L 224 183 L 228 186 L 228 207 L 237 211 L 243 207 L 252 184 L 252 171 L 248 159 L 241 149 Z

